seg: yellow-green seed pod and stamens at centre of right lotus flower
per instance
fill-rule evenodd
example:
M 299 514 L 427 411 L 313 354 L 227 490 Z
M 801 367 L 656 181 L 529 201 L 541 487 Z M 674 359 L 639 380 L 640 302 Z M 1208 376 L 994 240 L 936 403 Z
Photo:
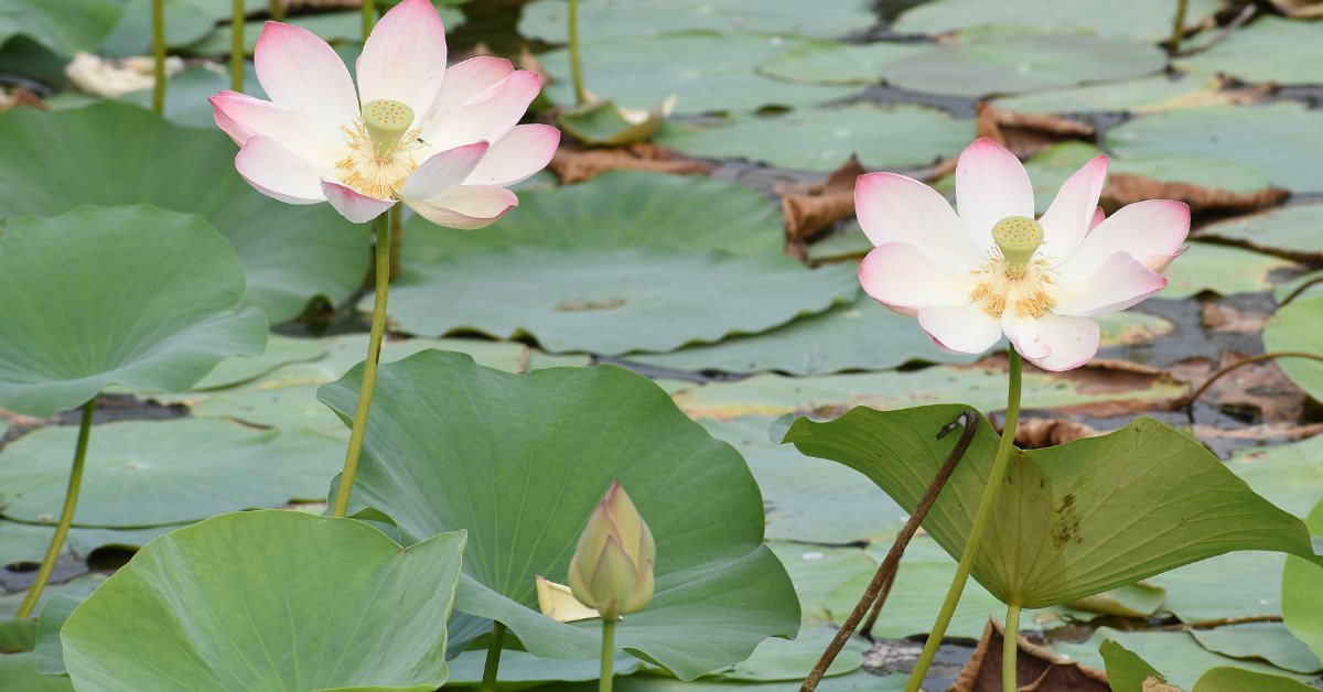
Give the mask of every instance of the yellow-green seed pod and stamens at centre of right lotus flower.
M 988 316 L 1002 318 L 1011 311 L 1016 318 L 1041 318 L 1057 304 L 1045 291 L 1056 283 L 1056 271 L 1036 255 L 1043 245 L 1043 226 L 1024 216 L 1011 216 L 992 226 L 995 250 L 975 270 L 982 281 L 970 299 Z

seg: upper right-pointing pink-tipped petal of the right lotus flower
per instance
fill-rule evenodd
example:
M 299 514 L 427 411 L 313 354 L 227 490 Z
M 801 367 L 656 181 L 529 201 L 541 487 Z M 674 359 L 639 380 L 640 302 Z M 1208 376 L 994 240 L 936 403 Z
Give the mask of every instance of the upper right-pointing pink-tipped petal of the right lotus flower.
M 1171 255 L 1189 233 L 1189 206 L 1148 200 L 1122 206 L 1085 236 L 1070 257 L 1056 266 L 1062 282 L 1093 274 L 1117 253 L 1130 257 Z

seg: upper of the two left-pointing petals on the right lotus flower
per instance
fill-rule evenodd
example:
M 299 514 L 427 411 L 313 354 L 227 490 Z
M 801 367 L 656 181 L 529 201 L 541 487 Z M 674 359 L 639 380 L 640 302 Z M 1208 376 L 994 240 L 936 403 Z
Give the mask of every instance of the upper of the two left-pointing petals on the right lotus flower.
M 855 183 L 855 213 L 873 245 L 908 242 L 951 269 L 971 270 L 982 254 L 951 205 L 935 189 L 896 173 L 868 173 Z

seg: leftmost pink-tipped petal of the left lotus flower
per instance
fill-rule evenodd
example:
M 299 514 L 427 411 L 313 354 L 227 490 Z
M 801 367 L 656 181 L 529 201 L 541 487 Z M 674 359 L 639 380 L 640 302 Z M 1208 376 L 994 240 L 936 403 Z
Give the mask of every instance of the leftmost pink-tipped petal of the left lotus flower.
M 233 91 L 208 101 L 216 110 L 216 123 L 239 146 L 254 135 L 266 136 L 318 167 L 335 165 L 347 153 L 343 138 L 306 112 Z

